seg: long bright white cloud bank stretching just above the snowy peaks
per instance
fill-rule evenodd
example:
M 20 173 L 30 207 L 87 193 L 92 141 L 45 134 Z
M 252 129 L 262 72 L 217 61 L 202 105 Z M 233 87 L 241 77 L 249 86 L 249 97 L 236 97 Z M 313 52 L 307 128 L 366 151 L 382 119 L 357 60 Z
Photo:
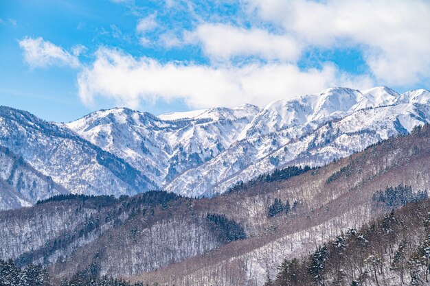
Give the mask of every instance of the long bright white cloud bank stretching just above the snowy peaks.
M 137 108 L 142 102 L 183 99 L 193 108 L 267 104 L 274 99 L 321 91 L 328 86 L 372 86 L 367 77 L 354 78 L 326 64 L 321 70 L 300 71 L 293 64 L 247 64 L 206 67 L 133 56 L 100 48 L 91 67 L 78 75 L 80 99 L 92 105 L 97 97 Z

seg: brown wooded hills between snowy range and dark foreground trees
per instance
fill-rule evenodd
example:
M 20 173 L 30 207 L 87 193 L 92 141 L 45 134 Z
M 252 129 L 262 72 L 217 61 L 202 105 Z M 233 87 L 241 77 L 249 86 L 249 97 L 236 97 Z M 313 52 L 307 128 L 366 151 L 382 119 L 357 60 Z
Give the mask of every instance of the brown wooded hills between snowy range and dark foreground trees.
M 54 280 L 95 267 L 150 285 L 262 285 L 283 259 L 307 256 L 406 198 L 425 198 L 429 139 L 425 126 L 288 180 L 269 176 L 215 198 L 63 196 L 3 211 L 0 259 L 45 263 Z

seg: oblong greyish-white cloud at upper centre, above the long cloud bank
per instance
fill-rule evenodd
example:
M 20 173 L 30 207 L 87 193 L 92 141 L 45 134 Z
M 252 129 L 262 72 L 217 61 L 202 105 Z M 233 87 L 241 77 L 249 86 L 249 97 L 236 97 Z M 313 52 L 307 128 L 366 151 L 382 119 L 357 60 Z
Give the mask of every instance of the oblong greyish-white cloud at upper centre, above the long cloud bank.
M 258 56 L 267 60 L 296 61 L 302 48 L 289 36 L 271 34 L 264 29 L 244 29 L 225 24 L 203 24 L 186 35 L 188 42 L 199 42 L 213 58 Z

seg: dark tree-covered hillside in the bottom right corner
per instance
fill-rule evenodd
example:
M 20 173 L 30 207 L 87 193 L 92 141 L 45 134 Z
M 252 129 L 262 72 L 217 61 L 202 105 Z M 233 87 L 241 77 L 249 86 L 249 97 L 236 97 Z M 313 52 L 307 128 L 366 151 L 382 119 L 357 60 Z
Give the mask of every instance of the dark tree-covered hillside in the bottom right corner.
M 264 286 L 429 285 L 430 200 L 410 203 L 317 247 L 284 259 Z

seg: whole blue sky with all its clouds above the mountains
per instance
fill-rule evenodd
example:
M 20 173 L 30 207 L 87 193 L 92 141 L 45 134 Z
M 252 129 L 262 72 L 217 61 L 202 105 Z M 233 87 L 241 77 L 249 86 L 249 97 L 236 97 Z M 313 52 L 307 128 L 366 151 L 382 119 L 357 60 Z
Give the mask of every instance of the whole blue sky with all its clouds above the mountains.
M 429 1 L 0 1 L 0 104 L 263 106 L 330 86 L 430 88 Z

